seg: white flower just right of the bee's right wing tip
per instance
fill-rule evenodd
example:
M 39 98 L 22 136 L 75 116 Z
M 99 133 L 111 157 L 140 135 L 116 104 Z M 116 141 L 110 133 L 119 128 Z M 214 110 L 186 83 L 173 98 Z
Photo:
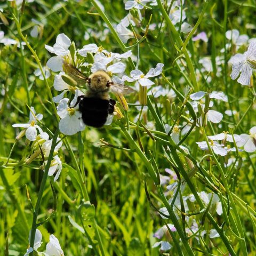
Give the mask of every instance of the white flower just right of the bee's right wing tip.
M 135 85 L 140 84 L 141 86 L 149 87 L 155 83 L 148 78 L 159 76 L 162 73 L 163 66 L 164 64 L 157 63 L 156 68 L 151 68 L 146 75 L 144 75 L 139 69 L 134 69 L 130 73 L 131 78 L 128 76 L 123 76 L 122 80 L 128 82 L 136 81 Z

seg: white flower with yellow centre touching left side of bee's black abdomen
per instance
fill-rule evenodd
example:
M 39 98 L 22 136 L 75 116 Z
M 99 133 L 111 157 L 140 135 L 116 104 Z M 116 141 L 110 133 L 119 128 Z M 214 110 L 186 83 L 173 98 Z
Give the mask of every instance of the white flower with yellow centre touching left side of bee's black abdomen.
M 74 99 L 71 101 L 70 106 L 74 106 L 77 102 L 78 94 L 82 92 L 76 90 Z M 57 113 L 60 116 L 59 129 L 60 132 L 66 135 L 74 135 L 77 132 L 83 131 L 85 124 L 82 121 L 82 114 L 79 112 L 79 104 L 74 107 L 68 106 L 69 99 L 64 98 L 60 101 L 57 107 Z

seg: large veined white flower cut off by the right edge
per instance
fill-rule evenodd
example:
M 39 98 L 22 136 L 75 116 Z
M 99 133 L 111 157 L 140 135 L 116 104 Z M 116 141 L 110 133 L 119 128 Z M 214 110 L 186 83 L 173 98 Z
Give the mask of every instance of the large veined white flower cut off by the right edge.
M 250 85 L 250 80 L 252 76 L 252 71 L 256 66 L 256 42 L 251 42 L 249 44 L 247 52 L 243 55 L 237 53 L 233 59 L 233 66 L 231 72 L 231 79 L 235 80 L 239 74 L 237 82 L 242 85 Z

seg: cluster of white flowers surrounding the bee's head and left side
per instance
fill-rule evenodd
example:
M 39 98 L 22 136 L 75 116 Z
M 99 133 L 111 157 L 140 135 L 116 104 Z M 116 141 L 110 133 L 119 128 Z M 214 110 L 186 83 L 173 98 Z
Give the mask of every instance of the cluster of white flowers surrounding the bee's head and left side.
M 70 47 L 73 50 L 70 50 Z M 79 95 L 86 93 L 84 89 L 86 89 L 85 83 L 87 80 L 81 81 L 78 77 L 89 77 L 91 73 L 101 70 L 105 71 L 111 78 L 111 82 L 122 85 L 125 81 L 128 81 L 130 83 L 135 82 L 135 86 L 137 87 L 139 84 L 149 87 L 155 83 L 148 78 L 161 74 L 164 66 L 162 63 L 158 63 L 156 68 L 151 68 L 146 75 L 142 71 L 135 69 L 131 71 L 131 77 L 129 77 L 124 75 L 126 69 L 124 62 L 131 57 L 131 51 L 123 54 L 113 53 L 108 52 L 102 46 L 96 44 L 84 45 L 79 50 L 75 50 L 74 47 L 75 44 L 72 43 L 71 46 L 71 41 L 65 34 L 58 35 L 56 43 L 53 46 L 45 45 L 46 50 L 56 55 L 47 61 L 47 67 L 55 72 L 60 71 L 59 74 L 55 75 L 53 87 L 55 90 L 62 92 L 54 97 L 53 101 L 59 103 L 57 106 L 57 113 L 61 118 L 59 129 L 60 132 L 66 135 L 73 135 L 79 131 L 83 131 L 85 128 L 81 119 L 82 115 L 79 112 L 79 106 L 76 102 Z M 73 63 L 72 65 L 75 68 L 73 71 L 78 73 L 78 76 L 67 70 L 67 68 L 63 68 L 67 63 Z M 81 73 L 82 71 L 85 71 L 85 75 Z M 69 78 L 64 79 L 64 77 Z M 75 93 L 71 102 L 69 98 L 63 98 L 67 92 Z

